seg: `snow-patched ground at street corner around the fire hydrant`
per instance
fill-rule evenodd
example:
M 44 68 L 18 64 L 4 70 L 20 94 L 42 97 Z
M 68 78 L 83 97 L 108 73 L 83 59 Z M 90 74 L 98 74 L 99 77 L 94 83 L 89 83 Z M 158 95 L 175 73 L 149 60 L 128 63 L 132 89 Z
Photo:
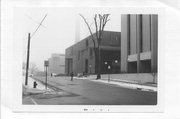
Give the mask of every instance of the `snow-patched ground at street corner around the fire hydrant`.
M 28 85 L 25 85 L 25 77 L 23 77 L 23 95 L 32 95 L 32 94 L 40 94 L 40 93 L 46 93 L 52 91 L 52 89 L 49 89 L 45 87 L 42 83 L 36 81 L 37 86 L 36 88 L 33 88 L 33 83 L 34 83 L 33 78 L 28 77 Z

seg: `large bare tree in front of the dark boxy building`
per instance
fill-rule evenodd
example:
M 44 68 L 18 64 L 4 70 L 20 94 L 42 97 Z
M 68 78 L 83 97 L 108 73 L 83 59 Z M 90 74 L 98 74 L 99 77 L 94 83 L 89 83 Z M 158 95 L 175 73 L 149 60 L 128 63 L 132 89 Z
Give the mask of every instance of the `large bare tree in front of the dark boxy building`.
M 106 26 L 106 23 L 110 20 L 109 17 L 110 14 L 95 14 L 94 15 L 94 24 L 95 24 L 95 35 L 92 33 L 91 25 L 87 22 L 86 18 L 80 14 L 80 16 L 83 18 L 84 22 L 86 23 L 88 30 L 91 35 L 91 39 L 93 41 L 94 45 L 94 54 L 95 54 L 95 71 L 97 73 L 97 79 L 101 78 L 101 50 L 100 50 L 100 44 L 102 41 L 102 33 L 104 31 L 104 28 Z

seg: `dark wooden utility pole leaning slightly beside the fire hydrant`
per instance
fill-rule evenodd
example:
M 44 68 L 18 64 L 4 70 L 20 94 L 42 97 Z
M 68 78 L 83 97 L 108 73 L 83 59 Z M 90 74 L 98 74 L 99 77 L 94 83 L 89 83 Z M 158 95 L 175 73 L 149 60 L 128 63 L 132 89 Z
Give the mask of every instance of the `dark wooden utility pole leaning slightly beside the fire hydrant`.
M 28 33 L 28 49 L 27 49 L 27 62 L 26 62 L 26 77 L 25 77 L 25 85 L 28 85 L 28 70 L 29 70 L 30 39 L 31 39 L 31 35 L 30 35 L 30 33 Z

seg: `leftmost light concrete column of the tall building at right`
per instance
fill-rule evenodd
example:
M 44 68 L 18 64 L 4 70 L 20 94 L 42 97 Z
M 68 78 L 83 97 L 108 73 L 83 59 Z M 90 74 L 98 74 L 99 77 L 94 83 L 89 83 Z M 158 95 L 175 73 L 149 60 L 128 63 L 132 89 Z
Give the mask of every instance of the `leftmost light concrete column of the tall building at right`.
M 130 15 L 121 15 L 121 72 L 128 72 Z

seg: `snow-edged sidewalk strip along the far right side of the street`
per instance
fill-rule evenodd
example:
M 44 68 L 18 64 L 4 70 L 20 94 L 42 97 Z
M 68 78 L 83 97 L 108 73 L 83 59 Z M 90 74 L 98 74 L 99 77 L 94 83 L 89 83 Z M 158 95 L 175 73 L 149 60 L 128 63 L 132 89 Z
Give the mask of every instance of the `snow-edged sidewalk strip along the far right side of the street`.
M 125 87 L 125 88 L 137 89 L 137 90 L 142 90 L 142 91 L 157 92 L 157 84 L 154 84 L 154 83 L 140 84 L 139 82 L 136 82 L 136 81 L 128 81 L 128 80 L 124 80 L 124 79 L 112 79 L 112 78 L 110 78 L 110 80 L 108 81 L 108 77 L 96 80 L 95 75 L 88 76 L 88 77 L 74 77 L 74 78 L 84 79 L 84 80 L 89 79 L 90 81 L 105 83 L 108 85 L 121 86 L 121 87 Z

